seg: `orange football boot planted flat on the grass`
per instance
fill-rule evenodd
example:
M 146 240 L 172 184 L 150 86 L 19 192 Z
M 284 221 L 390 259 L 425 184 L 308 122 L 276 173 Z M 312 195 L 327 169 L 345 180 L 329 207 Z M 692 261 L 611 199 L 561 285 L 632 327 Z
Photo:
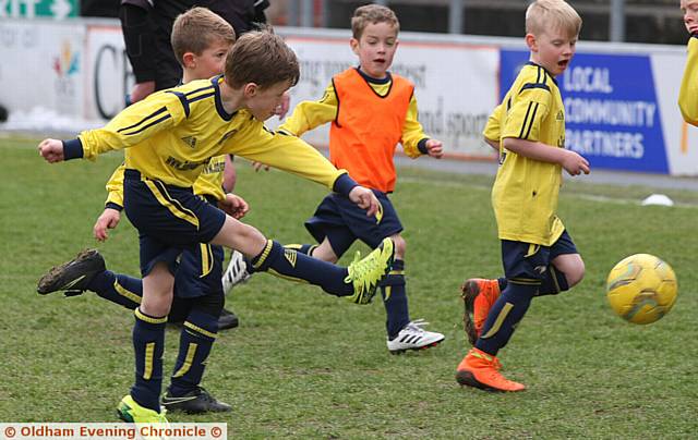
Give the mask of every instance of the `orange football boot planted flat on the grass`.
M 461 386 L 485 391 L 524 391 L 526 386 L 508 380 L 500 374 L 502 365 L 495 356 L 471 349 L 456 369 L 456 380 Z

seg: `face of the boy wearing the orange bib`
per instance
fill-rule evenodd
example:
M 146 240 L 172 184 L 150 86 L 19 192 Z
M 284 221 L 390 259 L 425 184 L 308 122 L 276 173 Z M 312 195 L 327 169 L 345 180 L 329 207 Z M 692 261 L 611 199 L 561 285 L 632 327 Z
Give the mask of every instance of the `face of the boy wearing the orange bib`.
M 361 38 L 352 38 L 350 45 L 361 70 L 371 77 L 384 78 L 397 50 L 397 29 L 389 23 L 369 23 Z

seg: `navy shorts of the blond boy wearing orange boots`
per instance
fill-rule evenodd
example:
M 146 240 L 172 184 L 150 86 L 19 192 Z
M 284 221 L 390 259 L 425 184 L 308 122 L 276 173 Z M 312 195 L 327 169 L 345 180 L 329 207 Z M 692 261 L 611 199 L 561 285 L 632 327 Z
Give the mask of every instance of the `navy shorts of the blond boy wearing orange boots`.
M 542 280 L 550 262 L 559 255 L 579 254 L 567 231 L 552 246 L 502 240 L 504 276 Z

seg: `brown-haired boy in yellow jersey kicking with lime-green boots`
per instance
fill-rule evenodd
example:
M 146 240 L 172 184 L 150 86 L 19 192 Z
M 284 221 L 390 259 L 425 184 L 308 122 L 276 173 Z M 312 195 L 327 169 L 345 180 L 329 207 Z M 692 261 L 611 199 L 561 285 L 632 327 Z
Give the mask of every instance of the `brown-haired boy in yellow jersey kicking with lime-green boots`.
M 279 36 L 248 33 L 228 52 L 224 76 L 153 94 L 104 129 L 85 131 L 75 139 L 39 144 L 48 162 L 95 159 L 127 148 L 123 201 L 139 230 L 143 300 L 133 328 L 135 383 L 119 405 L 123 418 L 166 420 L 159 405 L 165 322 L 172 302 L 172 269 L 183 249 L 201 243 L 233 248 L 250 258 L 255 270 L 320 285 L 358 304 L 372 300 L 388 272 L 390 240 L 342 268 L 285 249 L 192 191 L 209 158 L 236 154 L 325 184 L 365 208 L 366 216 L 376 213 L 378 201 L 370 190 L 303 140 L 264 126 L 298 77 L 296 54 Z M 215 320 L 208 320 L 195 330 L 215 338 Z

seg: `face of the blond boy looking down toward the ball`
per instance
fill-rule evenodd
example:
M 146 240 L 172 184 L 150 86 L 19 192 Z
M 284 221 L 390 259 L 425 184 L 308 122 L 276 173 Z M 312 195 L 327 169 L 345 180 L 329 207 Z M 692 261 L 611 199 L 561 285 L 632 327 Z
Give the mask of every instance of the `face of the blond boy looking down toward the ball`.
M 562 28 L 550 28 L 538 36 L 527 34 L 526 42 L 531 49 L 531 61 L 557 76 L 565 72 L 575 56 L 577 36 L 570 37 Z

